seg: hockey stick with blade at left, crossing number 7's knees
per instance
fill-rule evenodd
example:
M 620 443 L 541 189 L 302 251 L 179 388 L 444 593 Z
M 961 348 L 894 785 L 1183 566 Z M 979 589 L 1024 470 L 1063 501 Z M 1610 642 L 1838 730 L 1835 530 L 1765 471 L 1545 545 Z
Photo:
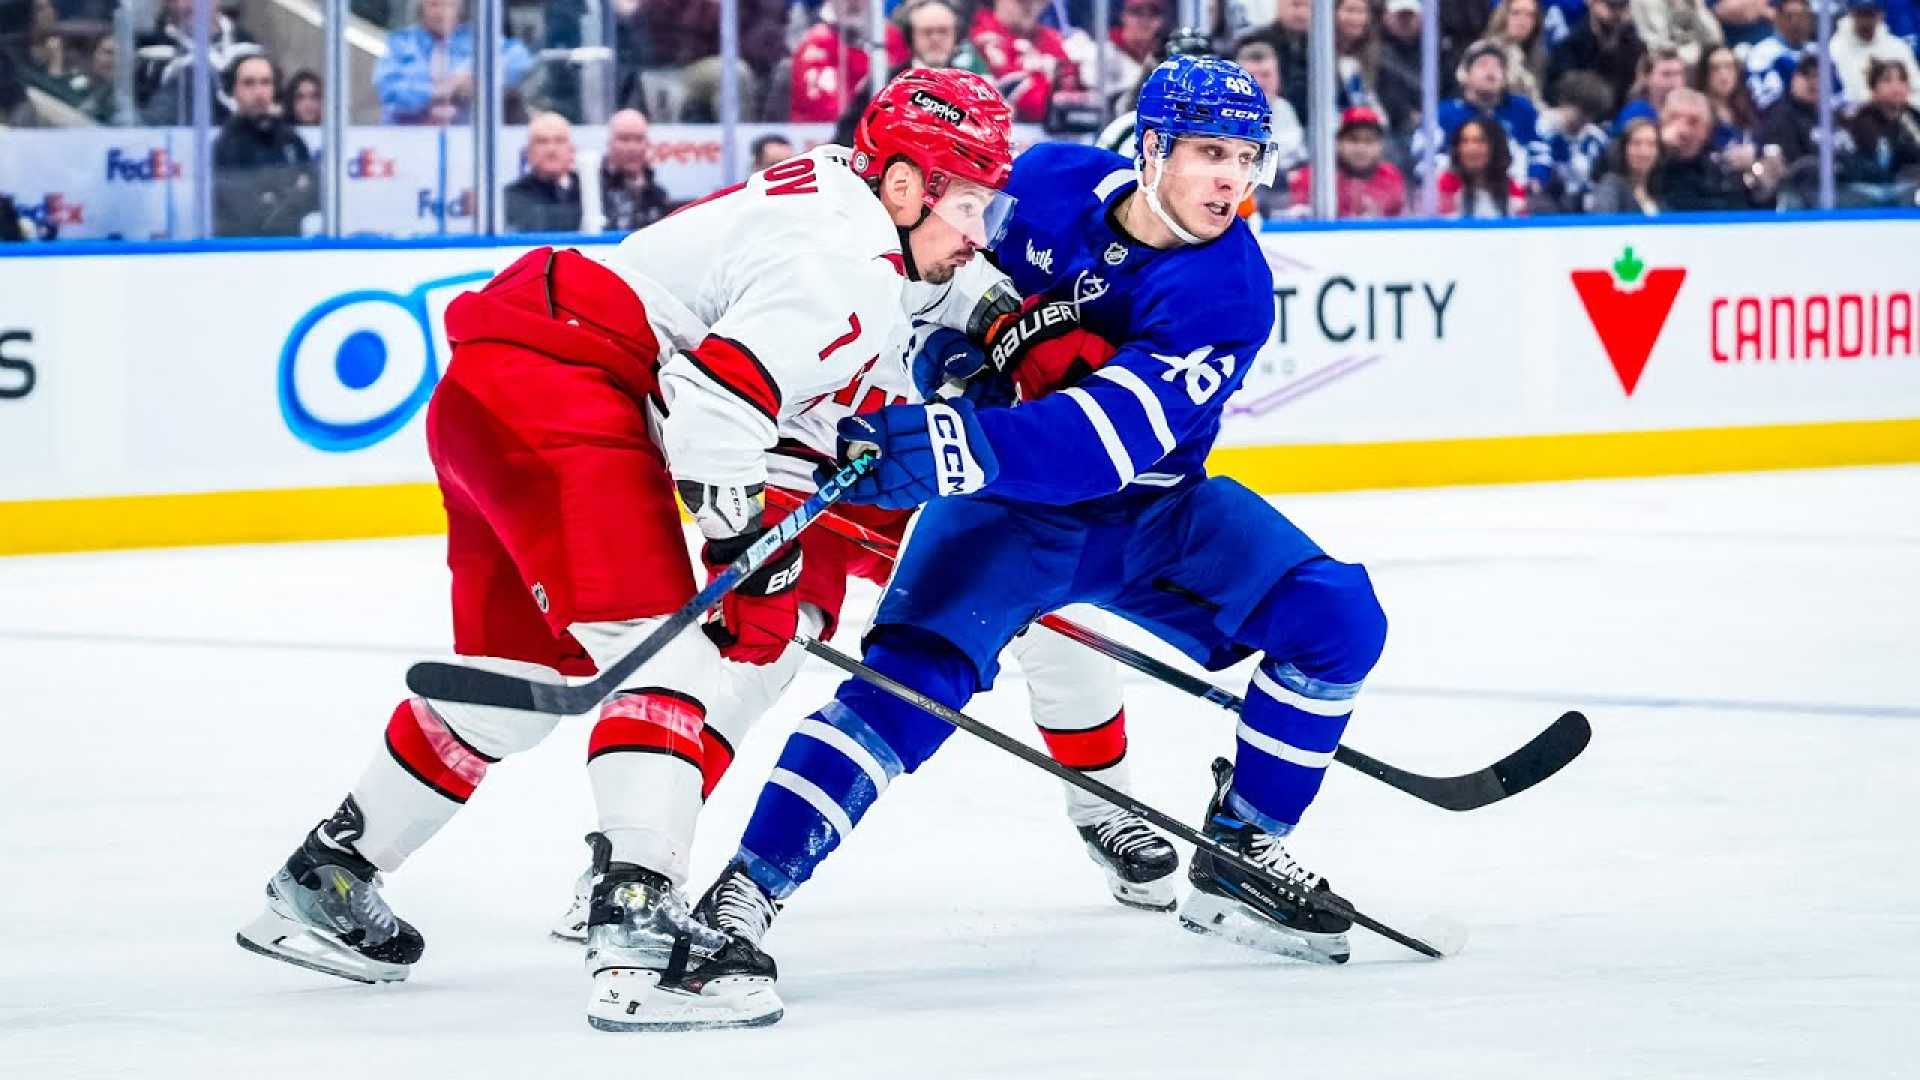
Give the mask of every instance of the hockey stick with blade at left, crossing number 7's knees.
M 624 657 L 607 665 L 597 676 L 580 684 L 564 682 L 545 682 L 520 678 L 515 675 L 503 675 L 497 671 L 482 671 L 478 667 L 465 667 L 459 663 L 440 663 L 424 661 L 407 669 L 407 690 L 413 690 L 420 698 L 436 701 L 465 701 L 468 705 L 493 705 L 499 709 L 522 709 L 530 713 L 557 713 L 563 717 L 572 717 L 576 713 L 586 713 L 601 701 L 605 701 L 614 690 L 620 688 L 639 665 L 653 659 L 668 642 L 680 636 L 687 626 L 693 626 L 707 615 L 714 603 L 733 590 L 741 580 L 751 577 L 768 559 L 774 557 L 789 540 L 801 534 L 803 528 L 818 521 L 828 507 L 837 503 L 847 488 L 854 480 L 864 477 L 874 469 L 877 461 L 872 454 L 862 454 L 847 465 L 841 467 L 828 482 L 820 484 L 820 490 L 806 498 L 799 507 L 795 507 L 787 517 L 781 517 L 772 528 L 760 534 L 737 559 L 733 559 L 724 571 L 714 575 L 707 588 L 693 594 L 693 600 L 680 605 L 678 611 L 660 621 L 637 646 L 634 646 Z

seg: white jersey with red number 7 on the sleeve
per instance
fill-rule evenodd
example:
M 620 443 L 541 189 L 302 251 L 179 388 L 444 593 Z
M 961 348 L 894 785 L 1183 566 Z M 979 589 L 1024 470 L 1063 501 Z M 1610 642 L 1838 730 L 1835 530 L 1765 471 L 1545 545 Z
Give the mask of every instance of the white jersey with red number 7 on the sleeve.
M 849 156 L 818 146 L 595 256 L 660 340 L 655 419 L 676 479 L 764 482 L 783 423 L 837 394 L 858 404 L 852 384 L 899 363 L 883 350 L 908 327 L 900 234 Z

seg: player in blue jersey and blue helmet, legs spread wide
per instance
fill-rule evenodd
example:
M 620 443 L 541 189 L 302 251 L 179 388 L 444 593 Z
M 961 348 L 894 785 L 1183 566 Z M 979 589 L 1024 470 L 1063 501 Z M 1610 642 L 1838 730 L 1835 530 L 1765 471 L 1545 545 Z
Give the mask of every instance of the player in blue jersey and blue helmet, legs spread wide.
M 1073 601 L 1210 669 L 1261 653 L 1236 759 L 1213 767 L 1206 830 L 1296 892 L 1202 851 L 1181 920 L 1340 963 L 1348 922 L 1304 901 L 1327 884 L 1284 836 L 1332 763 L 1386 617 L 1361 567 L 1204 471 L 1221 409 L 1273 323 L 1271 271 L 1235 213 L 1271 179 L 1269 108 L 1238 65 L 1173 58 L 1140 90 L 1139 133 L 1133 161 L 1041 144 L 1014 163 L 1018 204 L 996 261 L 1029 306 L 983 359 L 1014 375 L 1018 405 L 948 398 L 841 423 L 843 454 L 879 454 L 856 502 L 925 503 L 866 663 L 960 707 L 993 684 L 1014 634 Z M 1039 344 L 1064 340 L 1060 327 L 1073 329 L 1066 340 L 1112 346 L 1062 363 Z M 701 901 L 708 922 L 758 944 L 781 901 L 950 732 L 866 682 L 841 684 L 789 736 L 737 857 Z

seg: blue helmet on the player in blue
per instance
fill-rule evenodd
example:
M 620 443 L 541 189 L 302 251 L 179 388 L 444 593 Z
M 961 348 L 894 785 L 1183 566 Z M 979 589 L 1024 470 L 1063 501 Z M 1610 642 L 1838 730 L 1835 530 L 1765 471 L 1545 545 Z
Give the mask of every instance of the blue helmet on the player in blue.
M 1238 138 L 1260 150 L 1254 183 L 1271 184 L 1279 163 L 1273 106 L 1244 67 L 1217 56 L 1171 56 L 1140 85 L 1135 108 L 1135 158 L 1144 163 L 1144 135 L 1160 133 L 1158 154 L 1185 136 Z

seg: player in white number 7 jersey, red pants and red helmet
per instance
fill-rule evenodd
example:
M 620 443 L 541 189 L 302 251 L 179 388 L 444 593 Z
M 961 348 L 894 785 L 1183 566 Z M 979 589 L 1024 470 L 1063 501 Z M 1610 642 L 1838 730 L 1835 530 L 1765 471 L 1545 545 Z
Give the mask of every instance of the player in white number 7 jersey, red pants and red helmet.
M 591 675 L 695 592 L 678 490 L 708 573 L 764 530 L 778 425 L 860 379 L 1006 219 L 1008 110 L 962 71 L 876 94 L 852 150 L 824 146 L 716 192 L 605 258 L 541 248 L 447 309 L 428 405 L 447 507 L 453 648 L 538 678 Z M 799 617 L 789 546 L 599 707 L 588 1020 L 605 1030 L 780 1019 L 772 961 L 682 896 L 722 655 L 774 663 Z M 424 942 L 380 896 L 501 757 L 557 717 L 405 700 L 340 809 L 267 884 L 244 947 L 361 982 Z

